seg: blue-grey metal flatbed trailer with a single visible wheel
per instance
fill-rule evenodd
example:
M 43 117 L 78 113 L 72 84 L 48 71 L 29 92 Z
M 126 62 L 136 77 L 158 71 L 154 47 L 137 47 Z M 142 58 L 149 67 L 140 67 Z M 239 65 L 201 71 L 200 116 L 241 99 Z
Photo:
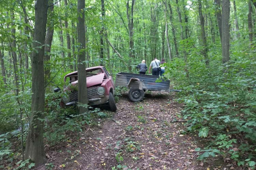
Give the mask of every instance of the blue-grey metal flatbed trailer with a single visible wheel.
M 141 101 L 146 90 L 170 92 L 170 80 L 159 79 L 159 76 L 121 72 L 116 74 L 115 87 L 128 87 L 129 99 Z

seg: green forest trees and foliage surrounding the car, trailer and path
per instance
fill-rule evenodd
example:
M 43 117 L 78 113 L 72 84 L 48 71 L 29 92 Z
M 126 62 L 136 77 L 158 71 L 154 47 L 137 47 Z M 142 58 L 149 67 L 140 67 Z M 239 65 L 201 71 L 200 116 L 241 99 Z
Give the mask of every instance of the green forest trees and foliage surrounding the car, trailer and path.
M 222 164 L 232 162 L 228 169 L 256 168 L 255 0 L 3 0 L 0 34 L 0 169 L 86 169 L 75 160 L 88 155 L 86 150 L 68 150 L 76 167 L 65 157 L 66 163 L 54 163 L 49 153 L 63 152 L 60 146 L 82 141 L 93 126 L 128 110 L 140 113 L 135 120 L 147 124 L 147 102 L 154 105 L 154 97 L 161 111 L 171 113 L 179 105 L 169 116 L 182 126 L 180 136 L 201 141 L 191 161 L 210 166 L 220 158 Z M 164 78 L 170 80 L 170 89 L 180 91 L 166 94 L 172 100 L 148 93 L 152 98 L 130 103 L 131 108 L 125 89 L 116 88 L 115 101 L 123 105 L 111 113 L 90 108 L 82 97 L 87 96 L 81 88 L 86 78 L 80 75 L 87 67 L 104 66 L 115 81 L 116 73 L 138 73 L 141 60 L 149 67 L 155 58 L 165 59 Z M 63 88 L 64 76 L 73 71 L 78 71 L 80 104 L 63 109 L 65 92 L 53 90 Z M 140 131 L 145 131 L 142 125 Z M 125 124 L 128 134 L 136 128 Z M 114 160 L 107 165 L 99 160 L 98 169 L 150 169 L 142 163 L 129 165 L 142 162 L 145 155 L 139 153 L 143 143 L 125 139 L 105 153 L 113 152 Z M 194 169 L 206 169 L 195 164 Z

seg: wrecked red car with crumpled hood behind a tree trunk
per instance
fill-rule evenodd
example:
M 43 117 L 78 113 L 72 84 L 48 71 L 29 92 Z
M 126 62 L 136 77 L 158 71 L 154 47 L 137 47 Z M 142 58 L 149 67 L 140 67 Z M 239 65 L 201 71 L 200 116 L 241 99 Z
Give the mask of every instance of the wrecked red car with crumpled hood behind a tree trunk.
M 69 73 L 64 77 L 64 81 L 69 81 L 70 84 L 64 89 L 68 95 L 62 97 L 61 106 L 65 107 L 77 103 L 77 79 L 77 71 Z M 88 104 L 90 106 L 106 105 L 111 111 L 116 111 L 114 83 L 105 67 L 97 66 L 87 68 L 86 86 Z

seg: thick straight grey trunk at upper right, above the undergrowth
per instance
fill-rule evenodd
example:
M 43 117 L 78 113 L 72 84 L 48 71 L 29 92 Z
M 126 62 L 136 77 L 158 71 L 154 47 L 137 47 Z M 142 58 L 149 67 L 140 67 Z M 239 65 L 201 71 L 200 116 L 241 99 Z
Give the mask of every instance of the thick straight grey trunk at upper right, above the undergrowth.
M 221 17 L 221 34 L 222 34 L 222 62 L 228 62 L 229 56 L 229 15 L 230 15 L 230 0 L 222 1 L 222 17 Z

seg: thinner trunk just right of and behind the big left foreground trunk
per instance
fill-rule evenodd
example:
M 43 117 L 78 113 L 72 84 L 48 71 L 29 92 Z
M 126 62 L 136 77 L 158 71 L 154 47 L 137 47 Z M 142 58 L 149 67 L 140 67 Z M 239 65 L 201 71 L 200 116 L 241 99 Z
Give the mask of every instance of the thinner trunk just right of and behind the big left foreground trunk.
M 52 13 L 54 10 L 53 0 L 49 0 L 49 9 L 48 15 L 49 18 L 52 17 Z M 51 18 L 49 20 L 49 27 L 47 27 L 46 36 L 45 36 L 45 85 L 47 85 L 47 81 L 51 80 L 51 46 L 52 46 L 52 38 L 54 33 L 54 20 Z

